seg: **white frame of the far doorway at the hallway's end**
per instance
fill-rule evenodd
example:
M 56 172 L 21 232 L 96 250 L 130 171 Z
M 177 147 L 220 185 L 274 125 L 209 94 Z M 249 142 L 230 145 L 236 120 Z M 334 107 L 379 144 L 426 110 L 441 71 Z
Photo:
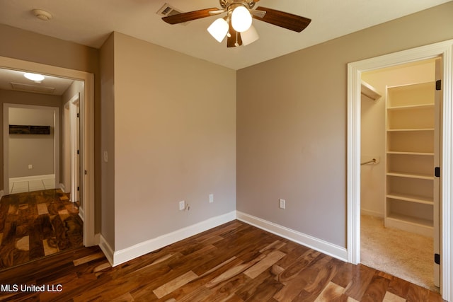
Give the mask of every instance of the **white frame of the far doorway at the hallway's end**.
M 25 104 L 3 104 L 3 180 L 4 180 L 4 194 L 9 194 L 9 108 L 24 108 L 34 110 L 49 110 L 53 111 L 54 124 L 53 135 L 54 135 L 54 175 L 55 183 L 54 186 L 58 187 L 59 180 L 59 108 L 52 106 L 41 106 L 41 105 L 25 105 Z

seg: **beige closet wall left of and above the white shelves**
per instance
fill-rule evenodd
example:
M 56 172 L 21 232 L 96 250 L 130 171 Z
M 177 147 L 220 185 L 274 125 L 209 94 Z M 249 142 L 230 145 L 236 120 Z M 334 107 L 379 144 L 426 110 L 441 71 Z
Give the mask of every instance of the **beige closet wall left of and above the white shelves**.
M 435 61 L 368 71 L 362 74 L 362 80 L 377 88 L 382 98 L 376 102 L 362 98 L 361 153 L 379 156 L 381 162 L 360 168 L 360 207 L 364 214 L 384 217 L 386 86 L 435 81 Z

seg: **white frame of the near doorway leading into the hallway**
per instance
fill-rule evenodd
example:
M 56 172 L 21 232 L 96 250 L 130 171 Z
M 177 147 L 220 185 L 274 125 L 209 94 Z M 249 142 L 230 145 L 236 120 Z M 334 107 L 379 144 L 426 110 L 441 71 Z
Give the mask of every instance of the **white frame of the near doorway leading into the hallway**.
M 0 57 L 0 68 L 32 71 L 38 74 L 60 76 L 84 82 L 84 94 L 81 95 L 81 202 L 84 207 L 84 245 L 98 244 L 94 229 L 94 76 L 85 71 L 67 69 L 58 66 Z

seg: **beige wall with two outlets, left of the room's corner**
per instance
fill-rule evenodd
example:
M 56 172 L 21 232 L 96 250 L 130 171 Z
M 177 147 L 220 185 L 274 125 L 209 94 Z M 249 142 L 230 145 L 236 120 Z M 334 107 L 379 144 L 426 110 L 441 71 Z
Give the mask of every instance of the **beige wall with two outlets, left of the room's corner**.
M 115 250 L 234 211 L 235 71 L 120 33 L 113 47 Z

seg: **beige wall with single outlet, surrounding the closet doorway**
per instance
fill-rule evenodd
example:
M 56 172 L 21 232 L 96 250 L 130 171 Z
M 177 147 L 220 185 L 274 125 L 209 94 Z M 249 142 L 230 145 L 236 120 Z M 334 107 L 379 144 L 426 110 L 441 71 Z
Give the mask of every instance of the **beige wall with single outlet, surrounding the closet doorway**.
M 452 16 L 449 2 L 239 70 L 237 209 L 345 247 L 347 64 L 452 39 Z

